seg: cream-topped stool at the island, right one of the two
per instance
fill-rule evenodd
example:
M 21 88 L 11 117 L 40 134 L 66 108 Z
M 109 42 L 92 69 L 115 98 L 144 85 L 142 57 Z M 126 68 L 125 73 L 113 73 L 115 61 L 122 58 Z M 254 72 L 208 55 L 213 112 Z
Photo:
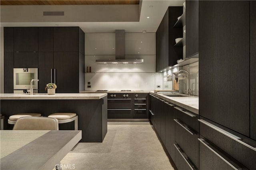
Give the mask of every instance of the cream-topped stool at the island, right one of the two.
M 78 116 L 76 113 L 52 113 L 48 117 L 58 119 L 59 124 L 75 121 L 75 130 L 78 130 Z

